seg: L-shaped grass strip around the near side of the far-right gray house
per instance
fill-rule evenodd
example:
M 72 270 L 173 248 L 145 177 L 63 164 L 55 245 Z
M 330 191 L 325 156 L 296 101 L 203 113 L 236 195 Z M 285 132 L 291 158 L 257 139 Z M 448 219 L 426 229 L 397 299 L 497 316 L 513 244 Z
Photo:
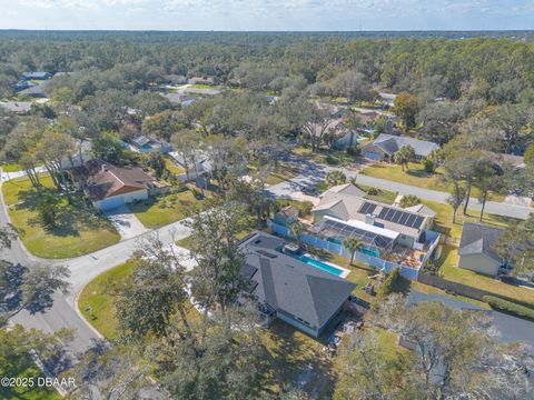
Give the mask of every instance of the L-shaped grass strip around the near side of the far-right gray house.
M 501 282 L 492 277 L 486 277 L 463 268 L 458 268 L 458 250 L 452 246 L 444 246 L 438 260 L 439 272 L 443 278 L 453 282 L 471 286 L 492 293 L 504 296 L 520 301 L 534 302 L 534 290 L 520 288 Z

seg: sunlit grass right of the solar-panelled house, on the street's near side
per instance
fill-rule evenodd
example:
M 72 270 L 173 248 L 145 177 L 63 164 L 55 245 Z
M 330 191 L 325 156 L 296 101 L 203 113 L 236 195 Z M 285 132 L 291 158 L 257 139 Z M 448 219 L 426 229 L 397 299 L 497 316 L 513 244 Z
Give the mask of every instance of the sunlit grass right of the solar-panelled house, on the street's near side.
M 462 224 L 464 222 L 478 222 L 478 211 L 467 210 L 467 216 L 462 213 L 462 209 L 456 214 L 456 223 L 453 223 L 453 208 L 448 204 L 442 204 L 435 201 L 422 200 L 422 202 L 437 212 L 434 220 L 434 230 L 449 236 L 454 239 L 456 244 L 459 244 L 459 238 L 462 237 Z M 520 220 L 511 217 L 495 216 L 485 213 L 483 223 L 506 228 L 508 226 L 517 223 Z

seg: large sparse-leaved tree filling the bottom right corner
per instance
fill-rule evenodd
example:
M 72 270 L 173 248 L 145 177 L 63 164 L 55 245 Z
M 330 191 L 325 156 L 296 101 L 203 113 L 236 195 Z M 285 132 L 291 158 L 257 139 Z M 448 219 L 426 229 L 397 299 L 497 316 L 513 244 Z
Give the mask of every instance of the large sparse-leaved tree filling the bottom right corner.
M 366 330 L 342 342 L 336 398 L 507 399 L 530 390 L 532 353 L 522 343 L 500 342 L 485 313 L 438 301 L 407 307 L 400 294 L 390 294 L 366 322 Z M 413 351 L 385 353 L 373 339 L 376 328 L 403 338 Z

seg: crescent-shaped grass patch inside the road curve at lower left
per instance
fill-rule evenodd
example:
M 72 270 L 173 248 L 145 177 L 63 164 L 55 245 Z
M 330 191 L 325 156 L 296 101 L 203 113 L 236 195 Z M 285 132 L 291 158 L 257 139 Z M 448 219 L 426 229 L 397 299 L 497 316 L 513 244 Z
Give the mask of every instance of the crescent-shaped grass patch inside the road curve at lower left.
M 78 298 L 80 312 L 106 339 L 117 338 L 113 296 L 135 267 L 136 262 L 130 260 L 103 272 L 90 281 Z M 87 311 L 88 307 L 92 309 L 92 313 Z

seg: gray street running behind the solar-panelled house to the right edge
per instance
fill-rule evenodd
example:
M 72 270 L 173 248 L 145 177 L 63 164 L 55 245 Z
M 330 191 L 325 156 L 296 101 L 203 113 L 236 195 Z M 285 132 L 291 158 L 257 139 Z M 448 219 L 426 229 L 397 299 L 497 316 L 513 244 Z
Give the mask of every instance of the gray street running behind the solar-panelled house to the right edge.
M 362 173 L 358 173 L 357 169 L 335 168 L 329 166 L 314 164 L 310 162 L 306 162 L 303 166 L 303 168 L 300 169 L 300 176 L 293 178 L 289 181 L 271 186 L 270 188 L 268 188 L 268 192 L 270 192 L 271 196 L 276 197 L 294 198 L 295 191 L 301 190 L 303 187 L 322 182 L 325 179 L 326 173 L 333 170 L 342 170 L 347 176 L 347 178 L 355 177 L 357 183 L 375 187 L 378 189 L 396 191 L 400 194 L 415 194 L 421 199 L 431 200 L 443 204 L 447 203 L 447 198 L 449 196 L 446 192 L 437 190 L 431 190 L 422 187 L 413 187 L 408 184 L 388 181 L 385 179 L 364 176 Z M 481 210 L 481 208 L 482 204 L 477 199 L 469 199 L 469 209 Z M 528 214 L 533 211 L 534 209 L 531 207 L 495 201 L 486 202 L 485 209 L 485 212 L 488 213 L 520 219 L 526 219 Z

